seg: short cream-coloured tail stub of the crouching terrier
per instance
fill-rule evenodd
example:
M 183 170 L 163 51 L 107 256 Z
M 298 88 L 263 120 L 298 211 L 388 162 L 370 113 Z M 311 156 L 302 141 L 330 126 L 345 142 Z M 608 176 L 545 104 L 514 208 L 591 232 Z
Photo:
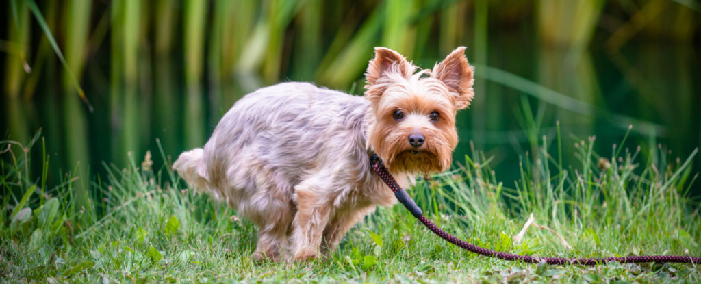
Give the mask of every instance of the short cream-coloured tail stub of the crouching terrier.
M 177 170 L 180 177 L 191 187 L 210 191 L 210 179 L 202 148 L 184 151 L 173 163 L 173 169 Z

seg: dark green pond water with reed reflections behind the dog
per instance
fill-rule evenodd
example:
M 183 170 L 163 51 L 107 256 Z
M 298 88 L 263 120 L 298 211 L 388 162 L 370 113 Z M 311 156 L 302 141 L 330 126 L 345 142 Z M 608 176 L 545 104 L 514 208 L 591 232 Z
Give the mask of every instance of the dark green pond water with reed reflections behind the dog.
M 475 63 L 473 52 L 468 48 L 468 59 Z M 513 187 L 519 178 L 519 156 L 526 151 L 532 153 L 532 142 L 542 144 L 543 135 L 547 135 L 547 142 L 554 143 L 549 145 L 550 153 L 557 153 L 557 142 L 553 140 L 556 121 L 562 130 L 566 165 L 579 165 L 580 161 L 572 155 L 574 144 L 590 136 L 596 137 L 595 151 L 610 157 L 612 145 L 620 144 L 627 125 L 633 121 L 633 131 L 624 147 L 635 151 L 641 146 L 644 155 L 639 163 L 646 163 L 651 151 L 655 159 L 676 163 L 679 157 L 683 162 L 701 144 L 699 55 L 699 49 L 693 46 L 662 43 L 629 44 L 620 53 L 592 48 L 573 54 L 542 47 L 527 36 L 491 36 L 486 62 L 477 63 L 521 76 L 591 104 L 598 111 L 582 109 L 580 105 L 567 110 L 543 102 L 539 97 L 542 93 L 529 95 L 494 78 L 485 78 L 480 72 L 486 68 L 478 67 L 475 101 L 470 109 L 458 114 L 460 143 L 454 161 L 465 164 L 464 156 L 472 155 L 472 147 L 484 151 L 485 156 L 493 157 L 491 167 L 498 180 Z M 92 178 L 100 175 L 104 180 L 107 170 L 103 162 L 121 168 L 129 159 L 128 152 L 138 164 L 150 150 L 158 169 L 163 159 L 156 140 L 162 144 L 166 159 L 175 161 L 185 149 L 201 147 L 222 114 L 239 97 L 267 85 L 256 76 L 236 75 L 221 82 L 205 79 L 199 86 L 188 87 L 183 61 L 179 55 L 172 55 L 142 60 L 138 83 L 132 88 L 111 90 L 114 86 L 109 83 L 107 53 L 95 58 L 87 63 L 82 79 L 95 107 L 93 113 L 87 111 L 70 86 L 55 88 L 62 86 L 60 75 L 42 76 L 32 100 L 3 100 L 0 129 L 4 133 L 27 142 L 41 128 L 50 156 L 48 184 L 56 184 L 62 175 L 74 170 L 76 161 L 81 161 L 81 173 L 89 173 Z M 432 67 L 442 58 L 426 53 L 414 58 L 414 63 Z M 578 64 L 571 63 L 573 58 L 578 59 Z M 296 74 L 285 78 L 310 80 Z M 362 85 L 359 76 L 355 86 L 336 87 L 360 94 Z M 115 98 L 111 92 L 123 95 Z M 556 99 L 563 101 L 562 97 Z M 199 124 L 186 126 L 198 116 Z M 540 121 L 537 129 L 532 129 L 533 124 L 528 122 L 531 120 Z M 657 128 L 653 131 L 644 124 Z M 32 151 L 35 177 L 41 170 L 41 142 Z M 7 154 L 3 157 L 8 158 Z M 701 158 L 695 159 L 694 173 L 701 168 L 700 161 Z M 83 186 L 86 182 L 81 180 Z M 701 194 L 698 184 L 693 187 L 694 195 Z

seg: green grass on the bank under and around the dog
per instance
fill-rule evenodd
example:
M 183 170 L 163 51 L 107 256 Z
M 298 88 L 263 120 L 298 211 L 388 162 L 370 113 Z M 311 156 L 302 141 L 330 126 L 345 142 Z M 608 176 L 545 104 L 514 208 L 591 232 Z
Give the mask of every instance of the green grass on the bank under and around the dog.
M 167 167 L 154 169 L 150 157 L 130 155 L 130 166 L 124 169 L 105 164 L 109 176 L 90 181 L 65 173 L 52 187 L 44 184 L 48 161 L 27 158 L 42 151 L 44 142 L 38 141 L 36 135 L 26 148 L 13 144 L 1 154 L 2 282 L 701 280 L 700 269 L 689 264 L 590 268 L 482 257 L 434 236 L 400 205 L 379 208 L 327 259 L 252 262 L 256 228 L 212 198 L 184 188 Z M 542 143 L 538 154 L 522 158 L 517 181 L 499 182 L 489 158 L 473 149 L 465 160 L 456 161 L 455 170 L 418 180 L 409 192 L 444 229 L 494 250 L 554 257 L 701 255 L 701 219 L 697 204 L 686 197 L 696 177 L 688 166 L 696 151 L 686 161 L 670 161 L 665 151 L 653 159 L 623 147 L 599 156 L 590 138 L 577 143 L 580 165 L 561 167 L 561 154 L 548 150 L 560 147 L 559 135 L 543 137 Z M 8 147 L 6 142 L 0 146 Z M 43 163 L 45 170 L 28 173 L 29 163 Z M 90 189 L 86 207 L 76 208 L 73 188 L 78 183 Z M 531 213 L 533 224 L 516 241 Z

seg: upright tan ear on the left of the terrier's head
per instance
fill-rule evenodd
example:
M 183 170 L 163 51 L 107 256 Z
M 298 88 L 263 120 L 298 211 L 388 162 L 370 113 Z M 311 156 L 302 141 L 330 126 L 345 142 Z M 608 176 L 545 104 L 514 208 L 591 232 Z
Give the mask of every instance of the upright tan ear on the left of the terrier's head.
M 379 98 L 392 83 L 388 79 L 393 76 L 409 79 L 413 73 L 414 66 L 407 62 L 404 56 L 389 48 L 376 47 L 375 58 L 370 60 L 365 74 L 365 97 L 371 101 Z

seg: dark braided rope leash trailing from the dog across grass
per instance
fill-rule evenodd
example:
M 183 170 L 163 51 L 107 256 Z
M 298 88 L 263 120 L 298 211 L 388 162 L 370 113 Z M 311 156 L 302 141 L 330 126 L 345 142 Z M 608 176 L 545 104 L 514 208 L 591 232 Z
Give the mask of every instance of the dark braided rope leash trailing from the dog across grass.
M 487 250 L 486 248 L 480 248 L 477 245 L 472 245 L 466 241 L 459 238 L 451 236 L 451 234 L 446 233 L 438 226 L 433 224 L 423 215 L 421 208 L 416 206 L 413 199 L 407 194 L 407 191 L 402 189 L 402 187 L 397 184 L 397 181 L 390 175 L 385 168 L 377 154 L 370 156 L 370 163 L 372 164 L 372 169 L 377 175 L 380 176 L 383 182 L 385 182 L 390 189 L 394 192 L 397 200 L 404 205 L 404 207 L 414 215 L 418 221 L 420 221 L 429 230 L 443 238 L 444 240 L 457 245 L 458 247 L 469 250 L 470 252 L 475 252 L 478 255 L 484 255 L 486 257 L 496 257 L 498 259 L 504 259 L 509 261 L 521 261 L 531 264 L 538 264 L 540 262 L 545 262 L 547 264 L 582 264 L 582 265 L 597 265 L 605 264 L 606 262 L 619 262 L 619 263 L 634 263 L 634 262 L 678 262 L 678 263 L 690 263 L 698 264 L 701 263 L 701 257 L 681 257 L 681 256 L 671 256 L 671 255 L 653 255 L 653 256 L 640 256 L 640 257 L 606 257 L 606 258 L 559 258 L 559 257 L 531 257 L 526 255 L 513 255 L 505 252 L 497 252 L 496 250 Z

